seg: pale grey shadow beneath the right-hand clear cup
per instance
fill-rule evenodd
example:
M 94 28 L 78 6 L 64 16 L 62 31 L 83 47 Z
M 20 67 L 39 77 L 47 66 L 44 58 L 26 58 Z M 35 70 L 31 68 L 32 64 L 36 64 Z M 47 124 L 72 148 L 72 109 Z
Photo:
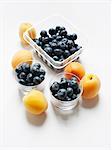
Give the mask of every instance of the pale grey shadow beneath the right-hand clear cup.
M 60 117 L 62 120 L 69 120 L 72 116 L 78 116 L 79 107 L 80 107 L 80 105 L 78 103 L 77 106 L 75 108 L 73 108 L 72 110 L 64 110 L 63 111 L 63 110 L 55 107 L 52 104 L 52 108 L 53 108 L 55 115 L 57 117 Z

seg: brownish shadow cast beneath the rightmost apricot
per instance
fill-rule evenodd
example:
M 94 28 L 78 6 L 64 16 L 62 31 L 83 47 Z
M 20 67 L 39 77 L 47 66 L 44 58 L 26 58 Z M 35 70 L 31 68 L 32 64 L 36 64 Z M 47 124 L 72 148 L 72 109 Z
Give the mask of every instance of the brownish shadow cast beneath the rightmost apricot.
M 97 95 L 95 98 L 92 98 L 90 100 L 86 100 L 86 99 L 82 98 L 81 105 L 84 108 L 94 108 L 97 106 L 98 102 L 99 102 L 99 95 Z

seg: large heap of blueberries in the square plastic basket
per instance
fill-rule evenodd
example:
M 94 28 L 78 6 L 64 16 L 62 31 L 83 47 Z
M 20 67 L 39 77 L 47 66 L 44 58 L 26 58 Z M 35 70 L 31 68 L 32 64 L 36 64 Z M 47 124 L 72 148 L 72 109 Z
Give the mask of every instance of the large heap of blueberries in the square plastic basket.
M 40 37 L 33 41 L 55 61 L 63 61 L 81 48 L 75 43 L 76 39 L 75 33 L 68 34 L 65 27 L 56 26 L 55 29 L 50 28 L 48 33 L 42 30 Z

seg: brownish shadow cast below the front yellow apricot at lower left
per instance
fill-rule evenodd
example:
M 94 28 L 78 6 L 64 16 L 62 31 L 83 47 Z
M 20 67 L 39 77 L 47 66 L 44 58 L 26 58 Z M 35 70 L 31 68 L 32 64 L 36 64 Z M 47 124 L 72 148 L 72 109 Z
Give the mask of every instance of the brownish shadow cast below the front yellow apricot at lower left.
M 33 126 L 42 126 L 47 117 L 46 113 L 42 113 L 41 115 L 33 115 L 26 111 L 26 118 L 30 124 Z

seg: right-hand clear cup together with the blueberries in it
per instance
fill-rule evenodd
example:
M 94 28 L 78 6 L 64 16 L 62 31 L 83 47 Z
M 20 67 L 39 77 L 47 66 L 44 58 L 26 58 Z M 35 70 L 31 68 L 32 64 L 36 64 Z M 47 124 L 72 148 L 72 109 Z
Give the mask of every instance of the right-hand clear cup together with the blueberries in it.
M 71 73 L 59 73 L 50 82 L 51 102 L 60 110 L 71 110 L 77 106 L 83 87 L 80 79 Z

